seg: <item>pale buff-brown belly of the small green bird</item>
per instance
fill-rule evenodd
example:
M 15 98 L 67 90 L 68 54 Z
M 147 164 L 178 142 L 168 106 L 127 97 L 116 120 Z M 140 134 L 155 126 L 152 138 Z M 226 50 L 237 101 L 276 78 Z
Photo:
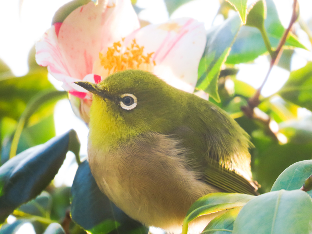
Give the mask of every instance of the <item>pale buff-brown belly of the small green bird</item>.
M 140 142 L 140 147 L 129 144 L 104 152 L 89 144 L 91 172 L 101 191 L 130 217 L 146 226 L 181 233 L 183 219 L 193 202 L 220 190 L 198 180 L 200 175 L 186 166 L 174 142 L 144 147 Z M 202 218 L 202 225 L 197 224 L 198 230 L 193 233 L 201 232 L 215 216 Z

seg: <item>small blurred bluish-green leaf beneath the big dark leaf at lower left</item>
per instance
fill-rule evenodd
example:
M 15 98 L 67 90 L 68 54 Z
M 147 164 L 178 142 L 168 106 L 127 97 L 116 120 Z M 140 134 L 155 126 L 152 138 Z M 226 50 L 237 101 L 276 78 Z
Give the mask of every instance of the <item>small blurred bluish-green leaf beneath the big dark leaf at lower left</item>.
M 50 218 L 52 198 L 49 193 L 43 191 L 34 200 L 20 206 L 17 210 L 24 213 Z

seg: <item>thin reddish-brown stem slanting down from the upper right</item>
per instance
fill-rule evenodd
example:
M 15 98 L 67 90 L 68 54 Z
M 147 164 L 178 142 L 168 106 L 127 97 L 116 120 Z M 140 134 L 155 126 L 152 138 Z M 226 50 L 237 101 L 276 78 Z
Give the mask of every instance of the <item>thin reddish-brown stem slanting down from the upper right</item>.
M 270 68 L 269 68 L 269 70 L 268 70 L 268 72 L 266 74 L 266 77 L 263 80 L 261 86 L 255 92 L 255 94 L 248 100 L 248 106 L 243 106 L 241 108 L 241 110 L 244 112 L 244 114 L 247 117 L 249 117 L 249 118 L 254 118 L 255 117 L 254 108 L 257 107 L 260 104 L 259 97 L 260 97 L 261 90 L 262 90 L 263 86 L 266 84 L 266 81 L 267 81 L 267 79 L 268 79 L 268 77 L 269 77 L 269 75 L 270 75 L 270 73 L 272 71 L 273 66 L 276 63 L 278 63 L 278 61 L 280 60 L 280 56 L 281 56 L 281 54 L 283 52 L 283 50 L 282 50 L 283 45 L 286 42 L 286 39 L 287 39 L 288 34 L 289 34 L 290 30 L 291 30 L 291 27 L 293 26 L 293 24 L 295 23 L 295 21 L 298 18 L 298 13 L 297 13 L 298 9 L 299 9 L 299 4 L 298 4 L 297 0 L 294 0 L 293 12 L 292 12 L 292 16 L 291 16 L 291 19 L 290 19 L 290 22 L 289 22 L 289 26 L 285 30 L 282 38 L 280 39 L 280 42 L 279 42 L 276 50 L 272 53 L 273 56 L 271 57 Z M 267 120 L 263 120 L 261 122 L 269 124 L 269 121 L 267 121 Z M 270 129 L 269 125 L 267 125 L 267 127 L 268 127 L 268 129 Z M 273 132 L 272 132 L 272 134 L 275 135 Z M 270 134 L 270 135 L 272 135 L 272 134 Z

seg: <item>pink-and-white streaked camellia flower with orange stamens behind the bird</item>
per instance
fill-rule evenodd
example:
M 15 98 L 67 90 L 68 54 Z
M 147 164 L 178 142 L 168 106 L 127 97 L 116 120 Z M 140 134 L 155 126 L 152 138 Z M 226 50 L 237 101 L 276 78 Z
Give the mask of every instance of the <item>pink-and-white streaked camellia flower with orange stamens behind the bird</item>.
M 75 81 L 99 83 L 114 72 L 141 69 L 193 93 L 205 44 L 204 25 L 192 18 L 140 29 L 130 0 L 100 0 L 54 23 L 36 43 L 36 61 L 63 82 L 75 114 L 88 124 L 92 95 Z

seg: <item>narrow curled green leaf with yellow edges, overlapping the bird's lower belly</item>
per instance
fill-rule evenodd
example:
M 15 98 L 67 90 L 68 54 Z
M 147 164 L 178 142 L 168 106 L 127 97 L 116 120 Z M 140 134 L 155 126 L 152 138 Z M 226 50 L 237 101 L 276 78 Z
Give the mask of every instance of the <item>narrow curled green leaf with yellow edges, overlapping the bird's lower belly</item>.
M 188 223 L 195 218 L 214 212 L 244 206 L 255 196 L 242 193 L 210 193 L 199 198 L 188 209 L 183 221 L 182 234 L 187 233 Z

